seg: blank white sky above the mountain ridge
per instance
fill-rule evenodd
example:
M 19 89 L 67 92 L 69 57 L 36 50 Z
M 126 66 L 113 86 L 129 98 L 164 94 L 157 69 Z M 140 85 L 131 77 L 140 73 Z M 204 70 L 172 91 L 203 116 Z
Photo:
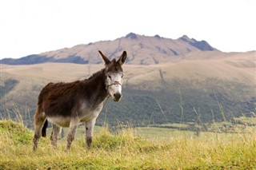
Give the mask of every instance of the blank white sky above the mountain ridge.
M 255 0 L 1 0 L 0 58 L 24 57 L 133 32 L 256 49 Z

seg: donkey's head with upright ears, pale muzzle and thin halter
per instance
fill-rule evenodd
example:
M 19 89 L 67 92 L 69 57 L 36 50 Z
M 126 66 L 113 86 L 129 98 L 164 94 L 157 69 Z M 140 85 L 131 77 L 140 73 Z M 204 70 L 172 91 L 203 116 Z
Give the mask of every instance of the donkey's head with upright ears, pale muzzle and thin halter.
M 126 51 L 122 53 L 118 61 L 110 61 L 101 51 L 98 51 L 105 62 L 105 85 L 107 93 L 114 101 L 119 101 L 122 97 L 122 65 L 126 61 Z

